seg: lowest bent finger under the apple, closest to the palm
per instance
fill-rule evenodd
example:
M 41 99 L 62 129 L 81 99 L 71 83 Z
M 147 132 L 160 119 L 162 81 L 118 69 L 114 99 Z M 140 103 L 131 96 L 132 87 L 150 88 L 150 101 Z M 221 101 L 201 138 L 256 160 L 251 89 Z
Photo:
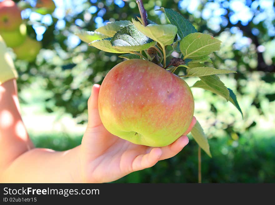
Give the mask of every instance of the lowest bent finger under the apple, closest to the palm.
M 159 147 L 153 148 L 147 154 L 138 155 L 133 160 L 132 172 L 154 166 L 158 162 L 161 155 L 162 155 L 162 150 Z

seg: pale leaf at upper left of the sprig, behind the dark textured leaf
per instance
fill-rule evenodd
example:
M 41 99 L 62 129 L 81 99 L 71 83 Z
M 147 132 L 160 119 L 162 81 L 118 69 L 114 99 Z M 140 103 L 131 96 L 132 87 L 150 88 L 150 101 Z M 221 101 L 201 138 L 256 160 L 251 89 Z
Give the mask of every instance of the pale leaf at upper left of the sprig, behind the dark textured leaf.
M 128 26 L 132 24 L 130 21 L 114 21 L 107 23 L 105 26 L 99 27 L 95 30 L 95 32 L 99 32 L 104 34 L 107 37 L 113 37 L 117 31 L 119 31 L 121 28 Z

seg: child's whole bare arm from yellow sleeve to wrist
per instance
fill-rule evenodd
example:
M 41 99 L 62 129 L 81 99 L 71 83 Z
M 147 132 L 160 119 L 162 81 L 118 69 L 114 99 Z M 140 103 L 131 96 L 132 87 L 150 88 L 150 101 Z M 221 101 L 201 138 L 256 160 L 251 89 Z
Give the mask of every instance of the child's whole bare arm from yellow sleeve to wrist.
M 80 182 L 79 147 L 34 148 L 22 122 L 15 79 L 0 85 L 0 182 Z

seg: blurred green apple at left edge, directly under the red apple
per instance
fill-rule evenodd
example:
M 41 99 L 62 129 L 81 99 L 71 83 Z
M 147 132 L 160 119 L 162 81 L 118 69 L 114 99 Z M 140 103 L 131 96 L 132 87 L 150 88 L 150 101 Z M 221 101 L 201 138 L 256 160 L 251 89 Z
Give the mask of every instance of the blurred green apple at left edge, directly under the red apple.
M 14 31 L 0 31 L 0 35 L 6 42 L 8 47 L 16 47 L 21 45 L 27 36 L 27 27 L 25 24 L 21 24 Z

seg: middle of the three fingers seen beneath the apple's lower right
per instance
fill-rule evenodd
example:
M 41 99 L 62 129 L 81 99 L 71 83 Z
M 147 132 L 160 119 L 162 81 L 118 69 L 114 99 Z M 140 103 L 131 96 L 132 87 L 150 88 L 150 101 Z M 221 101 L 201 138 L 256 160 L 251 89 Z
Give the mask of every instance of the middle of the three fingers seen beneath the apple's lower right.
M 168 159 L 178 154 L 187 144 L 189 139 L 187 136 L 182 135 L 175 142 L 168 146 L 161 147 L 162 155 L 159 160 Z

